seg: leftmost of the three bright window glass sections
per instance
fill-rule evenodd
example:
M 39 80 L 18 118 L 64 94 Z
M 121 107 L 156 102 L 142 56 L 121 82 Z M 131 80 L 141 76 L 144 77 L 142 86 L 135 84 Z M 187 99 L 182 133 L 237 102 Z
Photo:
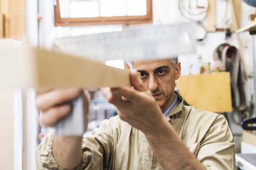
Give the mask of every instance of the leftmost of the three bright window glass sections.
M 99 17 L 99 2 L 97 1 L 78 1 L 70 3 L 70 17 Z

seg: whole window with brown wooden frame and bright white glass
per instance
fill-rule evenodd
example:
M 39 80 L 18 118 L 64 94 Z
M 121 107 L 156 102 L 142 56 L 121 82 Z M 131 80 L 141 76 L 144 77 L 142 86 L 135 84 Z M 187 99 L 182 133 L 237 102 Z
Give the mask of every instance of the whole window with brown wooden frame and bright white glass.
M 56 0 L 55 26 L 152 22 L 152 0 Z

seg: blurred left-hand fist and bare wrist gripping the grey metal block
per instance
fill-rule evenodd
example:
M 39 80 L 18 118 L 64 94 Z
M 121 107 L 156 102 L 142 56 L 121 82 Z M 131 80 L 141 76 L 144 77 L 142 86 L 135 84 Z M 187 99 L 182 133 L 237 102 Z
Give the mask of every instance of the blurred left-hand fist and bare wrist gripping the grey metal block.
M 54 126 L 59 120 L 70 114 L 71 102 L 81 94 L 80 89 L 40 89 L 36 91 L 35 103 L 40 109 L 40 124 Z M 85 129 L 88 123 L 88 97 L 84 100 Z M 53 154 L 62 168 L 74 168 L 82 159 L 82 136 L 55 136 Z

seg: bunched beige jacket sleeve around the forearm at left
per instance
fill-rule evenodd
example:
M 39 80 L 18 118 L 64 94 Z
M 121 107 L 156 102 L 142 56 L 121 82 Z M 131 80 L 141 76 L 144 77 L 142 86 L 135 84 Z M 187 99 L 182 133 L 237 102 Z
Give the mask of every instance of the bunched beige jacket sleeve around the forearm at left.
M 36 169 L 63 169 L 53 155 L 54 135 L 48 135 L 36 150 Z M 91 137 L 82 139 L 82 160 L 74 169 L 105 169 L 112 165 L 113 139 L 109 120 L 93 130 Z

